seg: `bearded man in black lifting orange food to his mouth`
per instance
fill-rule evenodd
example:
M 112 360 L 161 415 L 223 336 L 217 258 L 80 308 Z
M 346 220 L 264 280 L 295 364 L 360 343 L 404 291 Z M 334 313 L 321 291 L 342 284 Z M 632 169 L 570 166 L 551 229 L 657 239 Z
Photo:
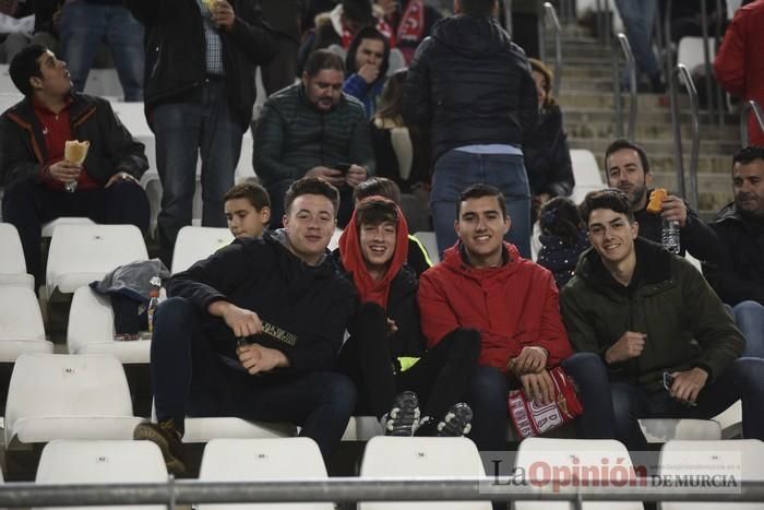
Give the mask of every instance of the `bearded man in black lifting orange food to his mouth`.
M 681 198 L 669 194 L 660 204 L 660 214 L 647 212 L 647 199 L 653 191 L 647 187 L 653 182 L 653 175 L 644 149 L 629 140 L 616 140 L 605 151 L 605 173 L 608 185 L 629 197 L 634 217 L 640 224 L 640 237 L 660 244 L 664 221 L 678 222 L 681 256 L 687 250 L 702 261 L 715 257 L 718 245 L 716 234 Z

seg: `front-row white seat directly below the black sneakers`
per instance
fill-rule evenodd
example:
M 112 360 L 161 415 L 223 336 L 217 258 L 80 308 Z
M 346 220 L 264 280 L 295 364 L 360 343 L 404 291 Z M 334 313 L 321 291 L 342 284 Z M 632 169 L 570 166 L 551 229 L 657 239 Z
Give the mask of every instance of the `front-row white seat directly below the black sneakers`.
M 482 477 L 480 454 L 467 438 L 378 436 L 369 440 L 361 462 L 361 477 L 405 478 Z M 490 501 L 366 501 L 359 510 L 490 510 Z

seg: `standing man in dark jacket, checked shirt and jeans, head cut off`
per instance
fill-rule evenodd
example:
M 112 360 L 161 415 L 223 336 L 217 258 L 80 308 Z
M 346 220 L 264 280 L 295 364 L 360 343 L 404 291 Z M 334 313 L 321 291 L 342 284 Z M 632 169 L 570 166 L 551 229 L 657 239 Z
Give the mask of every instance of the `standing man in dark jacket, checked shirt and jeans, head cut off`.
M 255 67 L 277 52 L 251 0 L 128 0 L 146 29 L 146 119 L 162 180 L 159 257 L 169 268 L 178 230 L 191 224 L 202 159 L 202 225 L 224 227 L 241 137 L 252 119 Z

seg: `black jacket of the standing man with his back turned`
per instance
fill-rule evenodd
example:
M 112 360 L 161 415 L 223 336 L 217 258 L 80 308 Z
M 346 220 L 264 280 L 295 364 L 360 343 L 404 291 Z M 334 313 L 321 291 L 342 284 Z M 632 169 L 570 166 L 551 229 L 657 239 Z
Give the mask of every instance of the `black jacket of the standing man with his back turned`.
M 538 117 L 525 54 L 491 16 L 439 21 L 409 66 L 403 117 L 431 127 L 433 162 L 464 145 L 522 147 Z

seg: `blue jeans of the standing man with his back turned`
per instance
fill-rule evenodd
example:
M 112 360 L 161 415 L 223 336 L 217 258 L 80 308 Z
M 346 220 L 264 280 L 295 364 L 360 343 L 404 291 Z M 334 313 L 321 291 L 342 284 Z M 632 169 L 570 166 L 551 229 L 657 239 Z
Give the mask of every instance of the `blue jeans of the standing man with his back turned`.
M 435 163 L 430 205 L 438 251 L 456 242 L 454 222 L 459 193 L 475 183 L 491 185 L 504 194 L 512 221 L 506 240 L 530 258 L 530 188 L 523 156 L 449 151 Z

